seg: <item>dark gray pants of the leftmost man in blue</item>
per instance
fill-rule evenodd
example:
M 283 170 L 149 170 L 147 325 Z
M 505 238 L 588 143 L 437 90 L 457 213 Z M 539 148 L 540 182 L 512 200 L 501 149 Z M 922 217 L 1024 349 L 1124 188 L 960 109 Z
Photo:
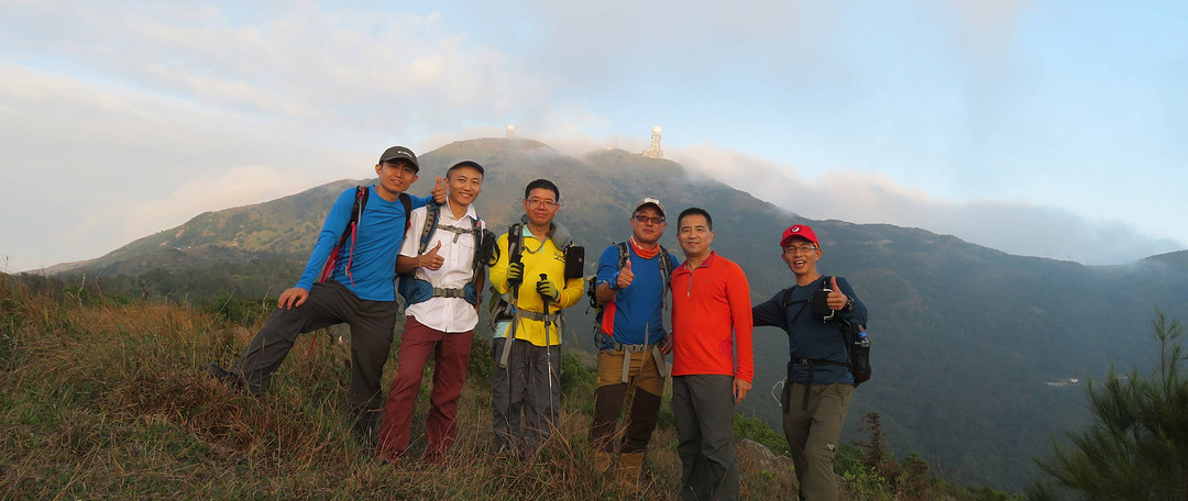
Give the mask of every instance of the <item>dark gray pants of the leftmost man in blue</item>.
M 244 378 L 252 393 L 264 393 L 298 335 L 346 323 L 350 325 L 350 405 L 356 410 L 378 411 L 384 405 L 379 380 L 399 315 L 400 307 L 394 300 L 359 299 L 334 280 L 314 284 L 309 299 L 301 306 L 272 312 L 239 355 L 232 372 Z

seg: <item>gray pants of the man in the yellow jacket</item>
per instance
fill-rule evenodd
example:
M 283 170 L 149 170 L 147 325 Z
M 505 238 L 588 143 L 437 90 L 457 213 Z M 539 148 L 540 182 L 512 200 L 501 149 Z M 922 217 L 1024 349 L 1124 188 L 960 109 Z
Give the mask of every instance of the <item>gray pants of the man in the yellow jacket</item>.
M 500 360 L 507 340 L 492 342 Z M 495 450 L 524 454 L 536 450 L 552 435 L 561 412 L 561 345 L 545 349 L 524 340 L 512 341 L 507 368 L 497 363 L 491 400 Z M 552 351 L 552 388 L 549 388 L 549 351 Z M 524 413 L 524 427 L 520 426 Z

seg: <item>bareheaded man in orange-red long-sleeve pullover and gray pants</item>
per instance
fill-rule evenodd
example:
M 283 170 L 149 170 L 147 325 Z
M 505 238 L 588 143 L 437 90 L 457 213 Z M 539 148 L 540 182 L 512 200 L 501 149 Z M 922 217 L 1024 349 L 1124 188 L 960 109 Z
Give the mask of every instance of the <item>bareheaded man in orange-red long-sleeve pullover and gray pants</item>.
M 710 251 L 704 209 L 677 217 L 685 261 L 672 272 L 672 414 L 682 500 L 739 499 L 734 405 L 754 378 L 751 287 L 733 261 Z

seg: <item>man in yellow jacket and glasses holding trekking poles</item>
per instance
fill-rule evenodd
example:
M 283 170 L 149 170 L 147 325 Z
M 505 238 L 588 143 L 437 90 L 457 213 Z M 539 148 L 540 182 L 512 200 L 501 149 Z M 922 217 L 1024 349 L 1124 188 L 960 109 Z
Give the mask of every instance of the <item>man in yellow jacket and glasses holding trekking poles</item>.
M 569 232 L 552 222 L 560 201 L 552 182 L 529 183 L 523 223 L 499 236 L 499 260 L 491 267 L 491 284 L 507 305 L 495 307 L 492 340 L 498 452 L 524 455 L 539 446 L 561 408 L 561 310 L 581 300 L 583 280 L 565 279 Z

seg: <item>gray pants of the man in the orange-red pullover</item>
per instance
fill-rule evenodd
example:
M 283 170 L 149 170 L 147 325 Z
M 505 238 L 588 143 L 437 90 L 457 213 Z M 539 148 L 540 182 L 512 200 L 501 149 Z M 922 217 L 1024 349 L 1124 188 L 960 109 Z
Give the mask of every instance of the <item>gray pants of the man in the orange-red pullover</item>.
M 682 467 L 681 500 L 738 500 L 734 376 L 674 376 L 672 416 Z

